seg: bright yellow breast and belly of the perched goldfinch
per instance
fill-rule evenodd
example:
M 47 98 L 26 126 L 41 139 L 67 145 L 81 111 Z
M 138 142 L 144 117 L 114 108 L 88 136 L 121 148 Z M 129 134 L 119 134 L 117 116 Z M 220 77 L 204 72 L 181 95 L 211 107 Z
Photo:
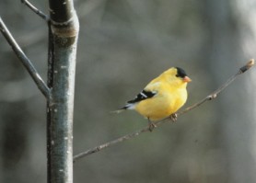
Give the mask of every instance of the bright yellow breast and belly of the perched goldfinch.
M 187 100 L 186 87 L 158 86 L 157 95 L 139 102 L 135 106 L 149 120 L 162 120 L 180 109 Z

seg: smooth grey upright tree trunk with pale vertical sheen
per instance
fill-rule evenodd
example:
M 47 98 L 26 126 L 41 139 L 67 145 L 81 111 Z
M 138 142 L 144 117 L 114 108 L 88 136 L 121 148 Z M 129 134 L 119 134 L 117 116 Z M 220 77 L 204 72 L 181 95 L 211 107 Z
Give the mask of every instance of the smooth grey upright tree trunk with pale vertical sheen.
M 73 1 L 50 0 L 48 182 L 73 182 L 73 109 L 78 18 Z

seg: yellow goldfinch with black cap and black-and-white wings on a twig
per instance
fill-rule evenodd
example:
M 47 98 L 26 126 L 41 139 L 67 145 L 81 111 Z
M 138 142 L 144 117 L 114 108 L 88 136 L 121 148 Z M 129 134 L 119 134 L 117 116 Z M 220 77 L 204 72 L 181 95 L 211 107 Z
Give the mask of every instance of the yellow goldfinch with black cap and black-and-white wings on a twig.
M 153 121 L 169 117 L 184 105 L 188 96 L 186 86 L 191 81 L 183 69 L 171 67 L 116 112 L 136 110 L 148 120 L 149 130 L 152 131 L 156 127 Z

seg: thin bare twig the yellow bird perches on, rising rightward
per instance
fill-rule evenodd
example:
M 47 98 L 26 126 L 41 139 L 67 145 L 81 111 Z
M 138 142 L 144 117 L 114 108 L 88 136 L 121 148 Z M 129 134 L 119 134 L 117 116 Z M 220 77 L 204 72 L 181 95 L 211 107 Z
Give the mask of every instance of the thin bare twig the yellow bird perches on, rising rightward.
M 250 69 L 250 67 L 252 67 L 254 65 L 254 59 L 250 59 L 250 62 L 247 63 L 246 65 L 244 65 L 243 67 L 241 67 L 239 69 L 239 72 L 237 74 L 234 74 L 232 75 L 229 79 L 227 79 L 227 82 L 225 82 L 224 85 L 220 86 L 219 88 L 217 88 L 213 93 L 211 93 L 209 96 L 207 97 L 204 97 L 202 100 L 200 100 L 199 102 L 193 104 L 192 106 L 186 108 L 186 109 L 183 109 L 181 111 L 178 111 L 175 115 L 176 117 L 188 112 L 188 111 L 191 111 L 192 109 L 195 109 L 199 106 L 201 106 L 204 102 L 208 101 L 208 100 L 212 100 L 214 99 L 215 97 L 217 97 L 217 95 L 222 92 L 227 86 L 229 86 L 236 78 L 239 74 L 243 74 L 244 72 L 246 72 L 247 70 Z M 166 121 L 169 121 L 169 120 L 172 120 L 172 117 L 168 117 L 166 119 L 163 119 L 163 120 L 158 120 L 157 122 L 155 122 L 155 124 L 157 126 L 159 126 L 160 124 L 166 122 Z M 94 154 L 96 152 L 99 152 L 100 150 L 104 149 L 104 148 L 107 148 L 107 147 L 110 147 L 111 145 L 115 144 L 115 143 L 121 143 L 122 141 L 126 141 L 126 140 L 129 140 L 131 138 L 134 138 L 135 136 L 138 136 L 139 134 L 141 134 L 142 132 L 149 132 L 149 128 L 148 127 L 145 127 L 144 129 L 138 131 L 138 132 L 133 132 L 131 134 L 127 134 L 127 135 L 124 135 L 116 140 L 113 140 L 109 143 L 103 143 L 99 146 L 96 146 L 92 149 L 89 149 L 83 153 L 80 153 L 80 154 L 76 154 L 74 157 L 73 157 L 73 161 L 75 162 L 76 160 L 82 158 L 82 157 L 85 157 L 89 154 Z

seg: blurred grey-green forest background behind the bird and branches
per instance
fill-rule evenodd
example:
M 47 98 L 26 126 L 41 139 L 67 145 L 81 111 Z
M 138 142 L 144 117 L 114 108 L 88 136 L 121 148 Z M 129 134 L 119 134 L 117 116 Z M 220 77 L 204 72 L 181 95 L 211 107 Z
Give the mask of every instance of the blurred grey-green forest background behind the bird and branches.
M 31 0 L 48 14 L 47 1 Z M 255 0 L 76 0 L 74 154 L 147 122 L 122 107 L 171 66 L 192 78 L 186 106 L 256 51 Z M 20 1 L 0 14 L 46 80 L 47 26 Z M 0 182 L 46 182 L 46 101 L 0 36 Z M 76 162 L 75 182 L 256 181 L 255 68 L 219 97 L 128 142 Z

